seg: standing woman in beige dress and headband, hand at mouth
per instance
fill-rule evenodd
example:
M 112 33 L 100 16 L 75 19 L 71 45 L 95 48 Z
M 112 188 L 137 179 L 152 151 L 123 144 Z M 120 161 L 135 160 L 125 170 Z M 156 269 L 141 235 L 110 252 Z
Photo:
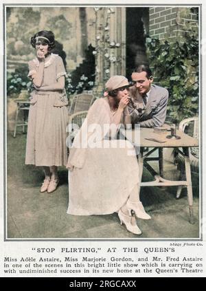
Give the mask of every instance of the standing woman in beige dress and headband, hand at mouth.
M 29 62 L 34 90 L 30 97 L 25 164 L 43 166 L 41 192 L 52 193 L 58 186 L 58 166 L 67 164 L 67 96 L 65 67 L 52 54 L 54 33 L 43 30 L 31 38 L 36 58 Z

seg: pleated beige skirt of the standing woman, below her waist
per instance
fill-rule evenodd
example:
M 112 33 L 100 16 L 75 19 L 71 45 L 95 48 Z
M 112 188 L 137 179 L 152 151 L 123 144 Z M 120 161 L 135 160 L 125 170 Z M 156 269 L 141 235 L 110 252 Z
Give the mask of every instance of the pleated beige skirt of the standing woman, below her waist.
M 67 164 L 66 106 L 55 107 L 58 92 L 34 94 L 30 105 L 25 164 L 62 166 Z

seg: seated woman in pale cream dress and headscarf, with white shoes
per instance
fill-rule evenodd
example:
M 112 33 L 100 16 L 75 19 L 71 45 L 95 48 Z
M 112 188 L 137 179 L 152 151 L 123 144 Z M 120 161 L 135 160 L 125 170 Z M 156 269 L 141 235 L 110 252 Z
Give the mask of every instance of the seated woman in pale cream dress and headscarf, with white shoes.
M 118 212 L 128 231 L 141 234 L 135 215 L 150 219 L 139 201 L 139 168 L 133 145 L 117 140 L 122 122 L 130 123 L 128 80 L 113 76 L 104 98 L 95 100 L 69 152 L 69 208 L 72 215 Z

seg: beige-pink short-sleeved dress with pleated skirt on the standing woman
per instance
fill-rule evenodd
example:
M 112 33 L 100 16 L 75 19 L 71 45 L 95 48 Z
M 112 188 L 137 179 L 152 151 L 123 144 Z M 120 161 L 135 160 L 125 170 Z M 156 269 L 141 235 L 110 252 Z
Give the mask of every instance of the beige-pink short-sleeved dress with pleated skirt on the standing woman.
M 28 76 L 38 72 L 38 59 L 29 62 Z M 66 74 L 62 58 L 51 54 L 45 61 L 42 86 L 54 85 Z M 65 91 L 32 91 L 27 128 L 25 164 L 67 164 L 67 98 Z

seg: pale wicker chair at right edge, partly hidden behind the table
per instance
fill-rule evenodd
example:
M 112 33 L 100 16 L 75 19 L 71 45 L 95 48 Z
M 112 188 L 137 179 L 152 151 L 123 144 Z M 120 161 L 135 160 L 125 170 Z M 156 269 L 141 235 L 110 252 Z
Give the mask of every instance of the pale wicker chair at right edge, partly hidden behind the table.
M 186 118 L 182 120 L 179 124 L 179 130 L 187 133 L 189 136 L 192 136 L 194 138 L 199 138 L 199 122 L 198 122 L 198 117 L 192 117 L 192 118 Z M 198 159 L 198 147 L 194 147 L 189 149 L 189 154 L 190 154 L 190 166 L 191 166 L 191 171 L 194 173 L 198 173 L 198 168 L 199 168 L 199 159 Z M 180 165 L 180 170 L 182 169 L 184 165 L 184 158 L 181 155 L 176 156 L 176 163 Z M 181 178 L 183 176 L 183 173 L 181 171 L 180 173 Z M 177 191 L 176 191 L 176 199 L 178 199 L 181 195 L 183 186 L 178 186 Z

